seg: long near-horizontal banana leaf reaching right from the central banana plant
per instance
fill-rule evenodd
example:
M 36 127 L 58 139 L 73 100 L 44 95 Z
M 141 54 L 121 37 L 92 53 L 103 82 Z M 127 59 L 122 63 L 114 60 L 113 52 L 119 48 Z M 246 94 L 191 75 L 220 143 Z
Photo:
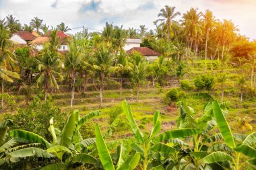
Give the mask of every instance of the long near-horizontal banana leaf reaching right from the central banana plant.
M 168 130 L 159 134 L 154 138 L 154 142 L 162 142 L 164 140 L 168 140 L 170 138 L 185 138 L 187 136 L 191 136 L 194 134 L 199 134 L 200 130 L 195 128 L 184 128 L 177 130 Z

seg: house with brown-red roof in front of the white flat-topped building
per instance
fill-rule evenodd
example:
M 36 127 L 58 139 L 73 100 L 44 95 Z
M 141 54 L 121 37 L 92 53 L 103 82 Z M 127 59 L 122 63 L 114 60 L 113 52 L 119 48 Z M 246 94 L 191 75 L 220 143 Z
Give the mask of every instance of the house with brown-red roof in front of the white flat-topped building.
M 146 56 L 146 60 L 156 60 L 159 53 L 148 47 L 133 47 L 127 50 L 127 54 L 132 54 L 133 52 L 139 52 L 141 55 Z

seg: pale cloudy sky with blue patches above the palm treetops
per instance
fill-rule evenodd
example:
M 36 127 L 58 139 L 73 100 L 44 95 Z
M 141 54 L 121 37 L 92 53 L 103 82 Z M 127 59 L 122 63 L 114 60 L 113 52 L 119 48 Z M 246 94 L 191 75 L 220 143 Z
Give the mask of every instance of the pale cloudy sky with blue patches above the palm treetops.
M 13 14 L 22 24 L 29 24 L 34 17 L 50 26 L 64 22 L 72 28 L 71 34 L 82 26 L 89 32 L 102 30 L 106 22 L 154 30 L 153 22 L 164 5 L 174 6 L 182 14 L 191 7 L 203 12 L 210 9 L 216 19 L 230 19 L 240 34 L 256 39 L 256 0 L 0 0 L 0 19 Z

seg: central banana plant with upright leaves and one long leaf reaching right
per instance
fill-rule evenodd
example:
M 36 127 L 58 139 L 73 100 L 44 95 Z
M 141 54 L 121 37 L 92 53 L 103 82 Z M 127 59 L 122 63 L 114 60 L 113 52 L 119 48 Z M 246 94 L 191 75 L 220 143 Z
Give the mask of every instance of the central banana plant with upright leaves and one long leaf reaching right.
M 184 139 L 200 132 L 198 128 L 179 128 L 158 134 L 161 130 L 161 120 L 160 112 L 156 111 L 151 132 L 149 134 L 142 133 L 133 118 L 131 108 L 126 100 L 122 101 L 122 107 L 134 135 L 131 148 L 141 155 L 140 169 L 163 169 L 164 165 L 162 164 L 164 163 L 159 161 L 158 163 L 154 163 L 156 157 L 160 158 L 166 155 L 166 157 L 180 157 L 183 152 L 180 152 L 182 148 L 178 144 L 180 140 L 178 138 Z M 168 168 L 176 166 L 176 169 L 180 169 L 180 163 L 170 162 L 172 162 L 172 165 L 168 165 Z

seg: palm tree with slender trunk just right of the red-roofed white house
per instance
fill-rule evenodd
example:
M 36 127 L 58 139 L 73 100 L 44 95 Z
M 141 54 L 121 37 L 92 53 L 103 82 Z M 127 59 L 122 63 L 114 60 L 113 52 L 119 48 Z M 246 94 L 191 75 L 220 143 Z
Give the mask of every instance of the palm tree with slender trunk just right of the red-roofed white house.
M 75 99 L 75 75 L 84 58 L 84 55 L 80 50 L 79 46 L 75 44 L 75 40 L 72 40 L 69 42 L 69 53 L 65 55 L 65 67 L 69 70 L 69 75 L 71 77 L 70 108 L 72 108 L 73 99 Z

